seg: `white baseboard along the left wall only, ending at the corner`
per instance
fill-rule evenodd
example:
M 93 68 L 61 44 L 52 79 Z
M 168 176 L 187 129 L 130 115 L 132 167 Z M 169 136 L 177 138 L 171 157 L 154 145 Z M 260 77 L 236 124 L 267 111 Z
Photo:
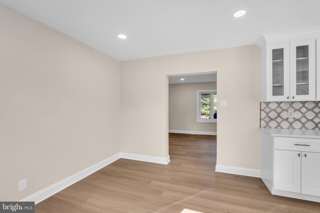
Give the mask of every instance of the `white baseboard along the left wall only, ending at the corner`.
M 111 164 L 112 162 L 118 160 L 120 158 L 119 153 L 112 155 L 111 157 L 100 161 L 78 173 L 75 173 L 74 175 L 71 175 L 43 190 L 40 190 L 39 192 L 34 193 L 33 195 L 30 195 L 24 199 L 22 199 L 20 202 L 34 202 L 35 204 L 40 203 L 41 201 L 49 198 L 50 196 L 60 192 L 61 190 L 67 188 L 68 186 L 71 186 L 72 184 L 80 181 L 81 179 L 91 175 L 92 173 L 98 171 L 99 169 L 102 169 L 103 167 Z

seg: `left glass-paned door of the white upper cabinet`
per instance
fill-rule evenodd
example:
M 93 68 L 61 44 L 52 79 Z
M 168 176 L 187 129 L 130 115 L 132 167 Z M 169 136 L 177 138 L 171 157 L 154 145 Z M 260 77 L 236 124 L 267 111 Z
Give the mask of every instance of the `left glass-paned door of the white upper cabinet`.
M 266 48 L 267 101 L 289 99 L 289 46 L 289 43 L 283 43 L 268 45 Z

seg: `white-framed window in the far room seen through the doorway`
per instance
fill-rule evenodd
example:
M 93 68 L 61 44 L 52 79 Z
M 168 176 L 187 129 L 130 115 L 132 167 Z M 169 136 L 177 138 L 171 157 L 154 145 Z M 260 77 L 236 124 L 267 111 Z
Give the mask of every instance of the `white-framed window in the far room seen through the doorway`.
M 216 90 L 197 90 L 196 100 L 197 122 L 216 123 Z

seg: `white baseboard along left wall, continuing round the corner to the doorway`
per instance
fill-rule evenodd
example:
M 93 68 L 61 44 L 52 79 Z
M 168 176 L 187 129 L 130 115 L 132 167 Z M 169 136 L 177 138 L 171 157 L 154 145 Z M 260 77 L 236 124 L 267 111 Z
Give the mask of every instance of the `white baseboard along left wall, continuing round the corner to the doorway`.
M 169 156 L 166 158 L 160 158 L 160 157 L 153 157 L 153 156 L 146 156 L 146 155 L 137 155 L 137 154 L 130 154 L 130 153 L 117 153 L 115 155 L 112 155 L 111 157 L 100 161 L 78 173 L 75 173 L 74 175 L 71 175 L 43 190 L 40 190 L 39 192 L 34 193 L 33 195 L 30 195 L 24 199 L 22 199 L 20 202 L 34 202 L 35 204 L 40 203 L 41 201 L 49 198 L 50 196 L 60 192 L 61 190 L 64 190 L 68 186 L 71 186 L 72 184 L 80 181 L 81 179 L 91 175 L 92 173 L 102 169 L 103 167 L 113 163 L 114 161 L 125 158 L 130 160 L 136 160 L 136 161 L 145 161 L 150 163 L 157 163 L 157 164 L 168 164 L 170 161 Z

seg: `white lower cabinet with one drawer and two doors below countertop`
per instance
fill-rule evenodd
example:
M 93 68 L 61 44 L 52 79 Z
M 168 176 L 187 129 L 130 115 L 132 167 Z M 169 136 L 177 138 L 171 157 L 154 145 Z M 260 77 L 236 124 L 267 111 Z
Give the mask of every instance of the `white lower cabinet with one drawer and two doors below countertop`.
M 320 135 L 275 137 L 261 131 L 260 147 L 261 179 L 272 195 L 320 203 Z

